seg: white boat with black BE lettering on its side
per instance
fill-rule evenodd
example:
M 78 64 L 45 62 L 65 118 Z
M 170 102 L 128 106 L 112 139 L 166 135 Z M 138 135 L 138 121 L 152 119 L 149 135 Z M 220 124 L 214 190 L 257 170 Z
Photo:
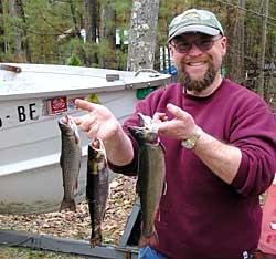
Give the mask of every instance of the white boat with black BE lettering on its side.
M 44 79 L 43 66 L 39 66 L 40 76 L 35 73 L 34 80 L 31 81 L 28 76 L 31 75 L 31 71 L 35 71 L 35 66 L 22 64 L 20 66 L 22 71 L 26 68 L 29 75 L 2 76 L 3 87 L 7 90 L 0 87 L 0 214 L 56 211 L 63 199 L 59 118 L 64 114 L 72 116 L 84 114 L 74 106 L 74 100 L 82 97 L 96 99 L 123 122 L 132 113 L 138 101 L 136 87 L 125 87 L 124 82 L 119 84 L 115 82 L 114 85 L 109 85 L 109 82 L 99 82 L 99 86 L 93 89 L 88 86 L 93 84 L 92 79 L 87 77 L 85 83 L 82 75 L 81 89 L 72 84 L 61 90 L 60 84 L 67 83 L 67 81 L 63 82 L 63 77 L 64 71 L 68 68 L 59 66 L 60 77 L 55 72 L 54 81 L 51 81 L 49 71 L 56 71 L 56 66 L 51 65 L 46 66 L 45 77 L 49 76 L 46 83 L 39 85 L 43 86 L 43 91 L 33 91 L 33 87 L 38 87 L 38 83 Z M 77 74 L 81 72 L 78 68 L 72 75 L 73 83 L 77 82 Z M 84 69 L 84 72 L 87 74 L 87 69 Z M 135 80 L 137 82 L 137 79 Z M 166 81 L 160 82 L 163 84 Z M 6 82 L 8 84 L 4 84 Z M 53 91 L 53 85 L 51 85 L 51 91 L 44 90 L 46 85 L 56 82 L 59 83 L 55 86 L 56 91 Z M 127 85 L 131 84 L 131 80 L 127 82 Z M 19 91 L 25 85 L 28 91 Z M 139 87 L 142 86 L 147 86 L 147 80 L 139 85 Z M 60 101 L 65 106 L 62 106 Z M 81 132 L 83 156 L 78 189 L 75 194 L 77 203 L 85 199 L 88 142 L 87 136 Z

